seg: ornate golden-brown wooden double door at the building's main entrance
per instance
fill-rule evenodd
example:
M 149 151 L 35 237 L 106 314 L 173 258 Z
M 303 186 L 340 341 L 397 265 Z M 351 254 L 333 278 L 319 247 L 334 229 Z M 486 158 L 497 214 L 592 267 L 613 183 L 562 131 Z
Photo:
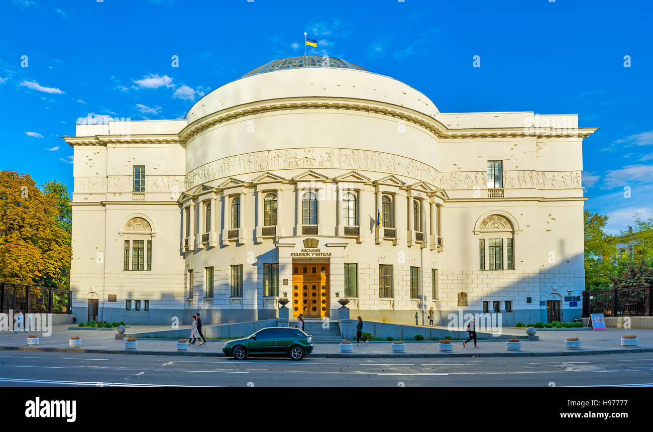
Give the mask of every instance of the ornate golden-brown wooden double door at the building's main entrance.
M 293 264 L 293 317 L 329 315 L 328 264 Z

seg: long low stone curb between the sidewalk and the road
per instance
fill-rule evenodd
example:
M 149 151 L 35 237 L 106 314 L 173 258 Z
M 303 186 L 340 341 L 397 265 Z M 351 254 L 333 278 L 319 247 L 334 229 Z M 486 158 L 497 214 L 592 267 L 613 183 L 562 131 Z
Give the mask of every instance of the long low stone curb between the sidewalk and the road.
M 191 356 L 191 357 L 224 357 L 221 352 L 176 352 L 176 351 L 139 351 L 139 350 L 99 350 L 86 348 L 54 348 L 54 347 L 0 347 L 0 350 L 10 351 L 40 351 L 40 352 L 68 352 L 78 354 L 132 354 L 142 356 Z M 552 352 L 434 352 L 424 354 L 310 354 L 311 358 L 439 358 L 439 357 L 546 357 L 546 356 L 588 356 L 596 354 L 628 354 L 639 352 L 653 352 L 653 348 L 632 348 L 614 350 L 574 350 Z

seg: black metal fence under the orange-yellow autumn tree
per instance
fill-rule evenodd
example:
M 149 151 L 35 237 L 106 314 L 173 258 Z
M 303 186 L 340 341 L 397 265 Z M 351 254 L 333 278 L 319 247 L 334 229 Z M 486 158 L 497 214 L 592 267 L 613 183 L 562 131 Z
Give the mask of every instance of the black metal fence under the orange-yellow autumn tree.
M 0 311 L 71 313 L 72 291 L 0 282 Z

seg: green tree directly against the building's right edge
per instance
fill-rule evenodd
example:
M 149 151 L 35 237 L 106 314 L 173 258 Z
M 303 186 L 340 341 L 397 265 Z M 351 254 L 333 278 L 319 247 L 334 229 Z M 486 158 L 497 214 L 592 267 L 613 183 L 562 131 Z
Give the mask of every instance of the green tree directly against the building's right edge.
M 584 212 L 585 289 L 603 290 L 610 287 L 614 275 L 612 257 L 616 255 L 614 239 L 605 234 L 608 217 L 589 210 Z

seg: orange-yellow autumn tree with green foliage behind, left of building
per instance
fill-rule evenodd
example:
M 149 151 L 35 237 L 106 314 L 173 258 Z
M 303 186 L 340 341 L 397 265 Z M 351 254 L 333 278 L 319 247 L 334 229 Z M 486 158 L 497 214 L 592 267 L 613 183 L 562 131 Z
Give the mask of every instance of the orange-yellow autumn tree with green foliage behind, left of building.
M 0 281 L 69 288 L 67 188 L 40 191 L 29 174 L 0 171 Z

